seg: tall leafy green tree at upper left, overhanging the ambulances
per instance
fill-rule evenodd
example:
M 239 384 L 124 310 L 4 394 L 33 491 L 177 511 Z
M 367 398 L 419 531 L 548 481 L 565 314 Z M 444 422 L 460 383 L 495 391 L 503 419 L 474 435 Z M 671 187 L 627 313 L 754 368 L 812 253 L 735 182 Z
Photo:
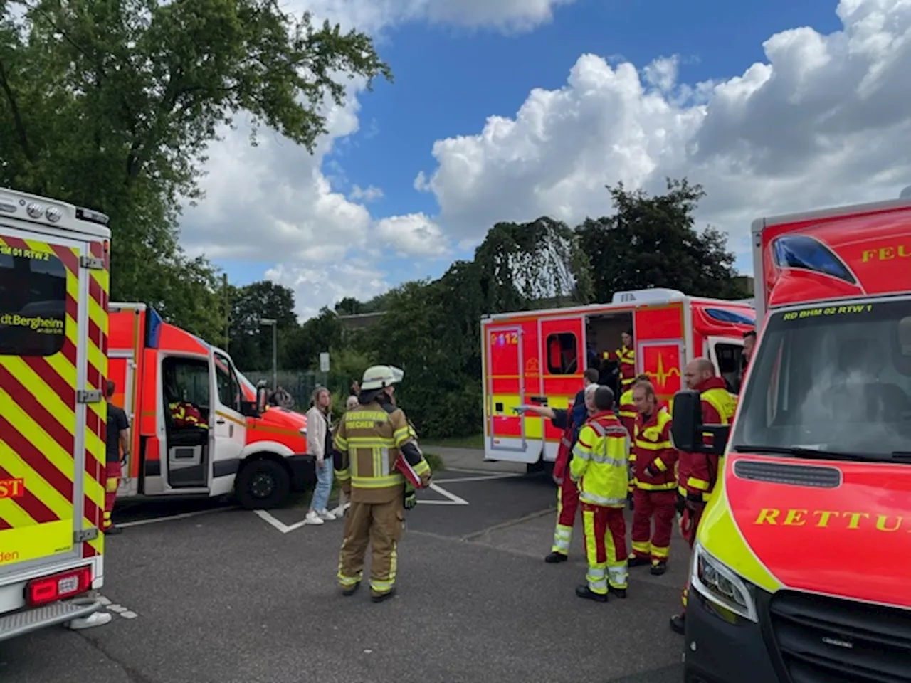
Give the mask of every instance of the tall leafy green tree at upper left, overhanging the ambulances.
M 243 113 L 252 144 L 265 125 L 312 152 L 322 105 L 378 75 L 368 36 L 273 0 L 2 0 L 0 186 L 107 213 L 113 298 L 210 336 L 218 273 L 178 244 L 206 148 Z

